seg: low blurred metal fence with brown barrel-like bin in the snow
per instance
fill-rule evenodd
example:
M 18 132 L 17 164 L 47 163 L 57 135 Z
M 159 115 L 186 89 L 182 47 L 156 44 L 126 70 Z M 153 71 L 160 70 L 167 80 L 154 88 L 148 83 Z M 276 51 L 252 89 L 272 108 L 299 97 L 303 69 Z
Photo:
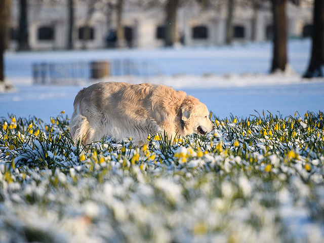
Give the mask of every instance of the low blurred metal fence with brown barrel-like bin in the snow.
M 71 63 L 33 63 L 34 84 L 78 84 L 91 79 L 109 76 L 160 75 L 157 65 L 147 61 L 114 59 L 111 61 L 71 62 Z

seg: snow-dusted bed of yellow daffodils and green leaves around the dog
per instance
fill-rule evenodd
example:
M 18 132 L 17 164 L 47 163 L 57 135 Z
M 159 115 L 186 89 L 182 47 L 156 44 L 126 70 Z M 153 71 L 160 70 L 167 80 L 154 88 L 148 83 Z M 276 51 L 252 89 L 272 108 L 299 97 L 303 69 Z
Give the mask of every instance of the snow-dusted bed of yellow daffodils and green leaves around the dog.
M 33 225 L 63 241 L 295 241 L 298 215 L 282 212 L 324 219 L 323 114 L 297 114 L 211 114 L 211 134 L 153 134 L 141 148 L 73 144 L 63 113 L 50 124 L 11 115 L 0 120 L 0 234 L 26 241 L 19 225 Z

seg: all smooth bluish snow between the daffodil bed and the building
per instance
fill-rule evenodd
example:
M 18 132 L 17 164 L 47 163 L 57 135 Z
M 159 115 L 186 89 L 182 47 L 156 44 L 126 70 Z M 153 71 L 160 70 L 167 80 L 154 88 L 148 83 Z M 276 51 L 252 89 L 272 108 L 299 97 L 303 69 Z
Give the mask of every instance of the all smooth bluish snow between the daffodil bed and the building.
M 249 44 L 233 47 L 157 50 L 94 50 L 7 53 L 6 74 L 15 90 L 0 94 L 0 116 L 37 116 L 49 120 L 65 110 L 70 116 L 73 99 L 83 87 L 91 85 L 32 85 L 34 62 L 113 60 L 129 58 L 153 63 L 163 75 L 156 77 L 114 76 L 108 81 L 165 84 L 184 90 L 206 103 L 217 116 L 231 113 L 247 117 L 269 110 L 283 116 L 307 110 L 323 110 L 322 79 L 302 79 L 309 58 L 309 40 L 290 41 L 289 60 L 293 71 L 267 75 L 271 45 Z

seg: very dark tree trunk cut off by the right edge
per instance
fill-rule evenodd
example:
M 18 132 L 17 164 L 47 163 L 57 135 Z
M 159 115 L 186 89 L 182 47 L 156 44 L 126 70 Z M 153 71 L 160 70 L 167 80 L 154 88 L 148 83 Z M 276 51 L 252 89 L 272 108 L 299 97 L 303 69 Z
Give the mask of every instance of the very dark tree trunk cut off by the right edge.
M 304 77 L 322 77 L 324 65 L 324 1 L 315 0 L 313 10 L 312 54 Z

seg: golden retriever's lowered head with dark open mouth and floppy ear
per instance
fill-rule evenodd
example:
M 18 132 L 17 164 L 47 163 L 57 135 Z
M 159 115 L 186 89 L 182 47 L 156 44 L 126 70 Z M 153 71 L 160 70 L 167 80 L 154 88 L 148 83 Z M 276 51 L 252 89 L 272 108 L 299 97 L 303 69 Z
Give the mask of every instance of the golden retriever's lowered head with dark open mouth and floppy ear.
M 207 106 L 190 95 L 180 106 L 180 117 L 184 135 L 205 135 L 215 129 L 215 125 L 209 119 Z

